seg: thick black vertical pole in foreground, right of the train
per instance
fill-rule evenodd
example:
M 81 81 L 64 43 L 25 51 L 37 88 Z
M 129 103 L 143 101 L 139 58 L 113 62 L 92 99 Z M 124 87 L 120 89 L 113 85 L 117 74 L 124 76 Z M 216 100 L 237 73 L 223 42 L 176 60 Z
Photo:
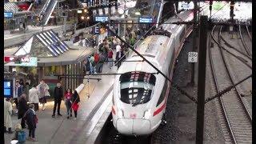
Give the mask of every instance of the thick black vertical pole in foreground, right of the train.
M 197 106 L 197 132 L 196 143 L 203 143 L 204 128 L 204 109 L 205 109 L 205 88 L 206 88 L 206 48 L 207 48 L 207 29 L 208 17 L 203 15 L 200 18 L 200 44 L 199 44 L 199 63 L 198 63 L 198 106 Z

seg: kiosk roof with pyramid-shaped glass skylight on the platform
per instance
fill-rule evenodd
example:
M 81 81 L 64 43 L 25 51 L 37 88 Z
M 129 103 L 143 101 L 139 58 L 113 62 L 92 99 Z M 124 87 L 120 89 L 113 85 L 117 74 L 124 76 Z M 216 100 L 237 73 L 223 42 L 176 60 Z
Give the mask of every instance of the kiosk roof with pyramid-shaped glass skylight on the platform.
M 82 62 L 93 48 L 67 46 L 53 30 L 46 30 L 33 36 L 21 47 L 5 49 L 6 56 L 25 56 L 38 58 L 38 66 L 60 66 Z

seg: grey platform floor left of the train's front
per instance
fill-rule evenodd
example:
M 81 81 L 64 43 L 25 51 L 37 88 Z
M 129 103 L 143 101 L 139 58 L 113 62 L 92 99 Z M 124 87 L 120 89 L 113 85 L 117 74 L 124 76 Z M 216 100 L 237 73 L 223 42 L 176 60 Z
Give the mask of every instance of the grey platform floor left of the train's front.
M 116 67 L 109 69 L 107 64 L 104 64 L 102 73 L 114 73 Z M 90 76 L 95 78 L 96 76 Z M 46 110 L 42 111 L 42 106 L 39 106 L 38 125 L 35 130 L 35 138 L 38 142 L 26 141 L 26 144 L 46 144 L 46 143 L 86 143 L 88 138 L 96 127 L 102 114 L 110 106 L 112 98 L 112 88 L 114 83 L 114 75 L 97 76 L 100 81 L 93 80 L 86 76 L 84 79 L 84 87 L 79 93 L 81 104 L 78 109 L 78 118 L 66 118 L 66 106 L 62 101 L 61 114 L 52 118 L 54 102 L 46 103 Z M 12 116 L 13 130 L 21 119 L 17 115 Z M 96 127 L 96 128 L 95 128 Z M 28 135 L 28 130 L 24 129 Z M 14 134 L 4 134 L 5 143 L 10 143 Z

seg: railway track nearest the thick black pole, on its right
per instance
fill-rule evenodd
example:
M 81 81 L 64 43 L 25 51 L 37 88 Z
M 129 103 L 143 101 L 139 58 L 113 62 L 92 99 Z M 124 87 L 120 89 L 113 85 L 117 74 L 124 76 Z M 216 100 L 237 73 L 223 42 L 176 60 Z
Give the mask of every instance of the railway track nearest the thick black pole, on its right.
M 218 30 L 216 28 L 214 26 L 211 31 L 210 42 L 213 39 L 217 43 L 218 48 L 209 48 L 209 58 L 215 88 L 219 92 L 221 88 L 234 85 L 234 78 L 232 77 L 230 67 L 227 66 L 224 50 L 221 48 L 222 26 L 218 27 Z M 252 142 L 252 118 L 237 88 L 218 98 L 217 109 L 225 143 Z

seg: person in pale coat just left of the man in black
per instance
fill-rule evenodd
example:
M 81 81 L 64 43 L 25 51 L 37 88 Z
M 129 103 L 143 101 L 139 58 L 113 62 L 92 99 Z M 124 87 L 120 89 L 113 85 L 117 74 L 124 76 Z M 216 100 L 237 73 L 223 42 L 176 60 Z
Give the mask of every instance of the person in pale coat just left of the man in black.
M 46 97 L 50 96 L 48 91 L 50 88 L 44 80 L 41 80 L 40 84 L 37 86 L 37 89 L 39 91 L 39 102 L 42 103 L 42 110 L 45 110 Z

